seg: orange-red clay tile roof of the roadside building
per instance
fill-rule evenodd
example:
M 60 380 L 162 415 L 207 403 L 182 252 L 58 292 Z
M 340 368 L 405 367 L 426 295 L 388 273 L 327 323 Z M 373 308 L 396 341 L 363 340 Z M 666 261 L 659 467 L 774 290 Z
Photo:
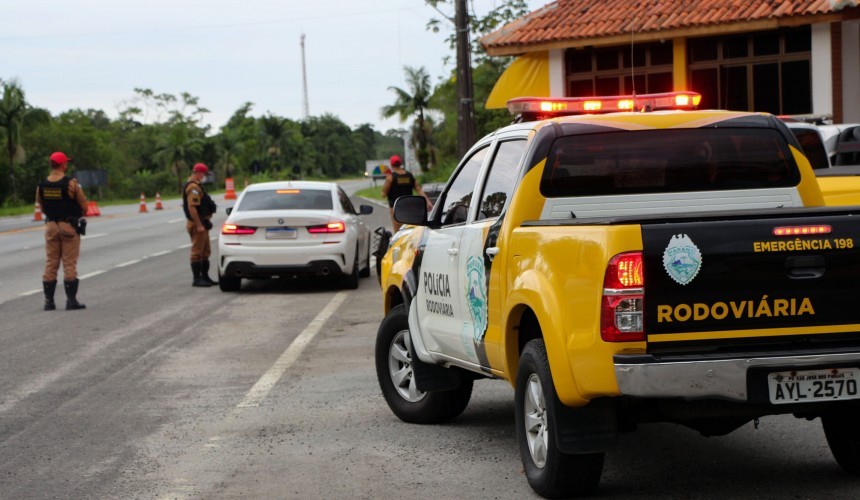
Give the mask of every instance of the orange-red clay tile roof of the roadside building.
M 860 17 L 858 3 L 860 0 L 556 0 L 485 36 L 481 43 L 490 53 L 511 53 L 527 51 L 530 46 L 575 45 L 577 40 L 631 32 L 812 19 L 840 11 L 856 19 Z

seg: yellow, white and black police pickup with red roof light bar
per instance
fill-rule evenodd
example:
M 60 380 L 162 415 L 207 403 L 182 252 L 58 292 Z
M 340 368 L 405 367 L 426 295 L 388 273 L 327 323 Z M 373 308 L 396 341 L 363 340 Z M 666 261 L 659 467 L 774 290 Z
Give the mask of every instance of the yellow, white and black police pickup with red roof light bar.
M 860 208 L 824 206 L 781 120 L 697 103 L 517 99 L 431 213 L 397 200 L 376 341 L 395 415 L 445 422 L 508 380 L 546 497 L 592 492 L 619 433 L 661 421 L 820 417 L 860 475 Z

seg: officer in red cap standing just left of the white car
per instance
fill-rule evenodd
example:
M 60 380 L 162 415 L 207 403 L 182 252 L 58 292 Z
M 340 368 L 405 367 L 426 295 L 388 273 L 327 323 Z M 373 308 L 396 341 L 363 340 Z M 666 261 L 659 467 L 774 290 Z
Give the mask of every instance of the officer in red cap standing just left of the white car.
M 209 242 L 209 230 L 212 229 L 212 214 L 215 213 L 215 202 L 203 189 L 203 179 L 209 173 L 209 168 L 202 163 L 194 165 L 191 177 L 182 188 L 182 208 L 185 211 L 185 229 L 191 236 L 191 272 L 194 274 L 192 286 L 212 286 L 217 281 L 209 278 L 209 256 L 212 247 Z

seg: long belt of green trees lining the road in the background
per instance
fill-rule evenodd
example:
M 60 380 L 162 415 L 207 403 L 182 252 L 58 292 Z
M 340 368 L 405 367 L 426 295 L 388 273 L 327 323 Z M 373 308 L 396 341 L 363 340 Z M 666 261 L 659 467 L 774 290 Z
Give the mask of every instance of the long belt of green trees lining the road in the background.
M 455 0 L 426 3 L 441 16 L 428 20 L 428 29 L 446 29 L 452 19 L 445 10 L 452 11 Z M 478 137 L 510 121 L 504 110 L 483 107 L 510 61 L 487 57 L 478 39 L 526 12 L 523 0 L 502 2 L 485 15 L 470 12 Z M 453 54 L 453 26 L 447 29 Z M 379 117 L 351 128 L 331 114 L 304 120 L 255 115 L 251 102 L 212 130 L 197 97 L 146 88 L 133 89 L 116 117 L 99 109 L 51 115 L 27 100 L 24 82 L 0 75 L 0 215 L 33 211 L 35 186 L 54 151 L 72 158 L 70 173 L 100 203 L 135 202 L 142 192 L 175 195 L 197 162 L 213 171 L 215 189 L 224 189 L 227 178 L 241 189 L 246 181 L 363 176 L 366 160 L 403 156 L 404 141 L 415 151 L 422 182 L 444 181 L 458 159 L 456 68 L 435 85 L 423 67 L 405 66 L 404 74 L 406 85 L 390 86 L 391 104 L 380 110 L 381 117 L 397 116 L 403 128 L 384 132 L 374 128 Z

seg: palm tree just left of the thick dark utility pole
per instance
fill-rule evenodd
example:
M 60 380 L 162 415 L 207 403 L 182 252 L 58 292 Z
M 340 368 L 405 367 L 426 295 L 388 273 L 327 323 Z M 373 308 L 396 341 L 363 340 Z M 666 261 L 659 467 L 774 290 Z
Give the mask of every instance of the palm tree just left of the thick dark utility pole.
M 388 87 L 388 90 L 397 95 L 394 104 L 382 107 L 382 117 L 391 118 L 397 115 L 401 122 L 405 122 L 411 116 L 415 116 L 415 122 L 412 125 L 412 144 L 415 146 L 416 154 L 418 155 L 418 164 L 421 166 L 421 171 L 426 172 L 430 166 L 431 159 L 431 127 L 425 123 L 425 110 L 430 108 L 430 75 L 423 67 L 412 68 L 404 66 L 403 71 L 406 74 L 406 85 L 408 90 L 403 90 L 398 87 Z

